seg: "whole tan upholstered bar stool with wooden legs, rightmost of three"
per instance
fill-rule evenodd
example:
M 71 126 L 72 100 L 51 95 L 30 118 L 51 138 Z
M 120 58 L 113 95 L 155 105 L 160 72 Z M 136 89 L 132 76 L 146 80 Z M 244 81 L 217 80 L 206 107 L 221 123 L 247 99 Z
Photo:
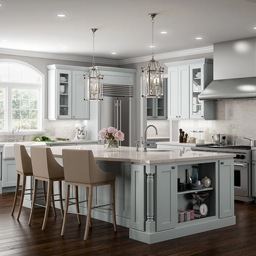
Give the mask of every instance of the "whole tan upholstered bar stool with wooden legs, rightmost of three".
M 108 210 L 112 210 L 114 230 L 116 232 L 115 174 L 102 171 L 96 164 L 91 150 L 63 149 L 62 159 L 66 182 L 66 199 L 61 235 L 64 235 L 65 233 L 67 213 L 71 213 L 70 211 L 68 211 L 68 206 L 72 204 L 78 205 L 79 203 L 84 202 L 78 201 L 77 203 L 70 204 L 70 185 L 86 187 L 87 219 L 85 227 L 85 237 L 83 238 L 83 240 L 87 239 L 88 230 L 89 227 L 91 227 L 92 208 L 101 208 L 102 206 L 112 205 L 112 208 Z M 111 204 L 92 206 L 93 187 L 107 184 L 111 185 Z

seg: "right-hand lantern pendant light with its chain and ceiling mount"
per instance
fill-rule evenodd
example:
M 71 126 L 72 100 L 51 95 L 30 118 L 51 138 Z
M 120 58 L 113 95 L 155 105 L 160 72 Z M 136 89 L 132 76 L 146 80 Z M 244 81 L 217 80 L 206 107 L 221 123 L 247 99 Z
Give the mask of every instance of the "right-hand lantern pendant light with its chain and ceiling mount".
M 154 18 L 156 13 L 150 13 L 152 22 L 152 59 L 147 62 L 145 67 L 142 67 L 143 82 L 142 82 L 142 97 L 145 98 L 163 98 L 163 76 L 164 68 L 159 65 L 159 62 L 154 59 Z

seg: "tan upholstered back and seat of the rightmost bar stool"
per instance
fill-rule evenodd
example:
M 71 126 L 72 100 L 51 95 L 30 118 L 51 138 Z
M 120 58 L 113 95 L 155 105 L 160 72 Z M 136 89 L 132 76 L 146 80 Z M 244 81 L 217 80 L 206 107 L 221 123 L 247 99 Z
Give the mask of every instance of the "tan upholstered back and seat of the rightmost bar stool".
M 92 184 L 115 180 L 115 174 L 99 168 L 91 150 L 63 149 L 62 160 L 65 181 Z

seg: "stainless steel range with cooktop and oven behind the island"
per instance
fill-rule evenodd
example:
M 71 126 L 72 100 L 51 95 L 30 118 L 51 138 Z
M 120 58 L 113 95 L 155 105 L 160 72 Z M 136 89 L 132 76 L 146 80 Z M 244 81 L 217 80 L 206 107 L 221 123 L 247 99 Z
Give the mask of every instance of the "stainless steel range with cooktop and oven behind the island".
M 252 150 L 244 145 L 197 144 L 191 147 L 196 151 L 215 151 L 233 153 L 234 157 L 234 193 L 235 200 L 250 202 L 252 196 Z

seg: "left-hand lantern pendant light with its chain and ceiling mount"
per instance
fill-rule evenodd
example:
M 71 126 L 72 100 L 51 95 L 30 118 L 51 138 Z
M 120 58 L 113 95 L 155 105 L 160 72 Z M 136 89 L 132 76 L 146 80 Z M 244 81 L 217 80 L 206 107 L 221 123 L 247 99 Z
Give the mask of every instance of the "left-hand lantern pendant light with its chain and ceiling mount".
M 92 55 L 92 68 L 88 71 L 85 78 L 85 100 L 89 101 L 99 101 L 103 100 L 103 75 L 100 74 L 100 71 L 95 68 L 94 62 L 94 38 L 95 32 L 97 28 L 91 28 L 92 31 L 92 48 L 93 48 L 93 55 Z

